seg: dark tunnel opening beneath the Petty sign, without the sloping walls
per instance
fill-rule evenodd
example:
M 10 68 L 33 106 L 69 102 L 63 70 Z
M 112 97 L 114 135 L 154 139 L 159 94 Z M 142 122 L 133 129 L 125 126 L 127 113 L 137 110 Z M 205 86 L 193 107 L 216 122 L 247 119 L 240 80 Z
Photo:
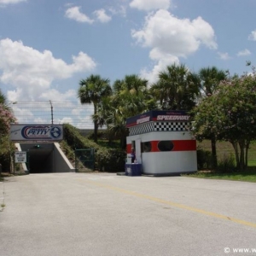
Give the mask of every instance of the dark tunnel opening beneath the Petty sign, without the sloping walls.
M 26 168 L 30 173 L 55 172 L 53 143 L 20 143 L 20 148 L 28 154 Z

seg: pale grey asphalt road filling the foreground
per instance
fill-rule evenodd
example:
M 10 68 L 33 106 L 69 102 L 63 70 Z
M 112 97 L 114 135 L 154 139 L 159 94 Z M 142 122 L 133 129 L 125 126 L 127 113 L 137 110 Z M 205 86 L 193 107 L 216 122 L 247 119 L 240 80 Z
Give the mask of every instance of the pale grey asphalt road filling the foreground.
M 31 174 L 3 201 L 1 256 L 256 255 L 255 183 Z

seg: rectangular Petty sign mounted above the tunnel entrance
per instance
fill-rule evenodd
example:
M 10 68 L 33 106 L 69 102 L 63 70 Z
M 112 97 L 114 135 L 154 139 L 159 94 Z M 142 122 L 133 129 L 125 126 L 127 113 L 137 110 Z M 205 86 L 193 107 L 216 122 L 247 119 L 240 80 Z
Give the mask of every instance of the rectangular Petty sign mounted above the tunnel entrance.
M 11 125 L 11 141 L 61 141 L 62 125 Z

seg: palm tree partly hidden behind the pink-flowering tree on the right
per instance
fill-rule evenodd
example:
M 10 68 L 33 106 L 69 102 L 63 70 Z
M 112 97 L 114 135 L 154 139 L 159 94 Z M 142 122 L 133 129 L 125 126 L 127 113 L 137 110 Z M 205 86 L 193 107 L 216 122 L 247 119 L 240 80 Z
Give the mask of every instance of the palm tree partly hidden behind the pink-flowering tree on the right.
M 219 70 L 217 67 L 204 67 L 198 73 L 200 79 L 200 96 L 205 98 L 207 96 L 212 96 L 215 92 L 218 84 L 226 79 L 227 72 Z M 214 134 L 209 133 L 212 147 L 212 166 L 217 168 L 218 159 L 217 159 L 217 149 L 216 149 L 216 138 Z

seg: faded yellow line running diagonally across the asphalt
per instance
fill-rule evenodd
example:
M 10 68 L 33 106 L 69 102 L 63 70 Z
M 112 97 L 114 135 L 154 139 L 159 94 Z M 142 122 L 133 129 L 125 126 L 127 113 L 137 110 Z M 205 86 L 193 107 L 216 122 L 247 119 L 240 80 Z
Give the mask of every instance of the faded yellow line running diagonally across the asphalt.
M 83 179 L 83 181 L 84 181 L 84 179 Z M 185 206 L 183 204 L 179 204 L 179 203 L 172 202 L 172 201 L 166 201 L 166 200 L 163 200 L 163 199 L 151 196 L 151 195 L 143 195 L 143 194 L 139 194 L 137 192 L 133 192 L 131 190 L 120 189 L 120 188 L 109 186 L 109 185 L 106 185 L 106 184 L 92 182 L 90 180 L 86 180 L 85 182 L 94 184 L 94 185 L 96 185 L 98 187 L 102 187 L 104 189 L 111 189 L 111 190 L 118 191 L 118 192 L 123 193 L 123 194 L 133 195 L 133 196 L 136 196 L 136 197 L 139 197 L 139 198 L 148 199 L 149 201 L 155 201 L 155 202 L 165 204 L 165 205 L 168 205 L 168 206 L 171 206 L 171 207 L 177 207 L 177 208 L 180 208 L 180 209 L 185 209 L 185 210 L 188 210 L 190 212 L 198 212 L 198 213 L 201 213 L 203 215 L 212 216 L 214 218 L 222 218 L 224 220 L 229 220 L 229 221 L 235 222 L 237 224 L 242 224 L 242 225 L 246 225 L 246 226 L 249 226 L 249 227 L 256 228 L 255 223 L 248 222 L 248 221 L 245 221 L 245 220 L 242 220 L 242 219 L 239 219 L 239 218 L 232 218 L 232 217 L 228 217 L 228 216 L 218 214 L 218 213 L 215 213 L 215 212 L 208 212 L 208 211 L 201 210 L 201 209 L 198 209 L 198 208 L 195 208 L 195 207 L 188 207 L 188 206 Z

